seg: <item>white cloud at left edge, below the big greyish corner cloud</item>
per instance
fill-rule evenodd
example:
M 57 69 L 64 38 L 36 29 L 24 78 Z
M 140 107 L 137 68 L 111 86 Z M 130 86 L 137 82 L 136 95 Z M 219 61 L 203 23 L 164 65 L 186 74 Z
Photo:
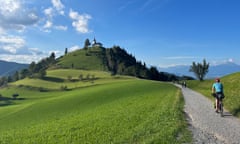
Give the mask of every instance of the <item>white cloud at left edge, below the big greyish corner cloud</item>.
M 18 36 L 0 36 L 0 50 L 15 54 L 25 46 L 25 40 Z

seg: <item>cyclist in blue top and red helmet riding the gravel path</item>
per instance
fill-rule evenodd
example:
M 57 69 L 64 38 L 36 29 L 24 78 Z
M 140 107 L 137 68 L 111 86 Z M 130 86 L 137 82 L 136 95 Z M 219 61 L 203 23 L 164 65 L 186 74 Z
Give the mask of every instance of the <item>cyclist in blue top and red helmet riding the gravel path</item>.
M 212 85 L 212 95 L 215 97 L 215 108 L 216 112 L 218 112 L 219 100 L 224 98 L 223 84 L 220 82 L 219 78 L 216 78 L 215 83 Z

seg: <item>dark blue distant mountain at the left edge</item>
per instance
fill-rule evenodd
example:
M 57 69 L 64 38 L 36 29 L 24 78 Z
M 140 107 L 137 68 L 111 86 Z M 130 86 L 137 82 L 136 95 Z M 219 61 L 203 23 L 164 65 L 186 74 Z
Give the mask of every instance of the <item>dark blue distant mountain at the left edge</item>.
M 27 67 L 28 64 L 19 64 L 16 62 L 7 62 L 0 60 L 0 77 L 14 74 L 16 71 Z

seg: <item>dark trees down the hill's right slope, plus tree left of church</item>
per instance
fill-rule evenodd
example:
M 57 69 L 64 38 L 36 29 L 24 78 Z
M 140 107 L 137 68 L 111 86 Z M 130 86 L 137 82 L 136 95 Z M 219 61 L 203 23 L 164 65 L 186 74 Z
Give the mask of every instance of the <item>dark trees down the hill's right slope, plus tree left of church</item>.
M 83 50 L 90 51 L 90 42 L 87 39 L 84 44 Z M 148 67 L 145 62 L 137 61 L 136 58 L 129 54 L 125 49 L 120 46 L 113 46 L 112 48 L 101 49 L 99 57 L 103 60 L 103 65 L 107 71 L 112 75 L 129 75 L 143 79 L 158 80 L 158 81 L 176 81 L 179 79 L 192 79 L 187 76 L 176 76 L 174 74 L 160 72 L 157 67 Z

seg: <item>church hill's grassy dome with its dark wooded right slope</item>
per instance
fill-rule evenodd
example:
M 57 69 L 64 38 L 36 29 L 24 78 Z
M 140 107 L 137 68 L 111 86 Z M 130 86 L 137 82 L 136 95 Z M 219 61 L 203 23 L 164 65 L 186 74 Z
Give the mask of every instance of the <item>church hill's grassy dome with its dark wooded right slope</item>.
M 112 48 L 88 47 L 65 54 L 57 59 L 57 68 L 108 71 L 113 75 L 129 75 L 138 78 L 172 81 L 177 77 L 160 73 L 155 67 L 148 68 L 119 46 Z

